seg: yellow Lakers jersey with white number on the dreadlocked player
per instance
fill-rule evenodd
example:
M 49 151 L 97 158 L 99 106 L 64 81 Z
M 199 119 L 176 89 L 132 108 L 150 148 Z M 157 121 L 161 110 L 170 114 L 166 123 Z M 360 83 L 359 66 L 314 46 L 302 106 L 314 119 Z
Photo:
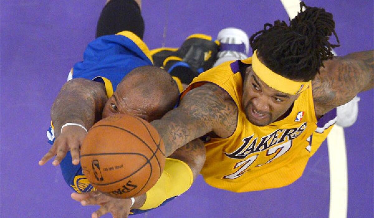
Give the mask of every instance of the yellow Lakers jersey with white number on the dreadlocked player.
M 229 93 L 237 105 L 234 133 L 206 142 L 206 161 L 201 171 L 209 185 L 235 192 L 278 188 L 298 179 L 311 156 L 310 136 L 317 127 L 310 82 L 283 120 L 263 127 L 250 123 L 241 104 L 243 76 L 239 66 L 251 61 L 248 58 L 212 68 L 196 77 L 185 90 L 214 83 Z

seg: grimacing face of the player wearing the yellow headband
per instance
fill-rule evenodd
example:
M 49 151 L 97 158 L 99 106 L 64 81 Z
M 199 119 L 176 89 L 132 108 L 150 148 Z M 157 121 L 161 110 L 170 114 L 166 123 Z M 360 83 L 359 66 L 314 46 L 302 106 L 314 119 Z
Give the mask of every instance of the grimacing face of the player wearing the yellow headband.
M 242 107 L 245 116 L 256 126 L 266 126 L 283 119 L 298 95 L 289 95 L 267 86 L 252 70 L 246 69 Z

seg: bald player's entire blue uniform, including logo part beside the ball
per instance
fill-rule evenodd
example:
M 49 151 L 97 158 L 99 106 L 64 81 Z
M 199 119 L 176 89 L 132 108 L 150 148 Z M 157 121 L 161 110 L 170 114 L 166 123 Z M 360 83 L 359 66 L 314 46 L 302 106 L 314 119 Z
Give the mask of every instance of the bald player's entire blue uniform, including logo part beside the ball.
M 123 31 L 116 35 L 99 37 L 89 43 L 84 52 L 83 61 L 74 65 L 68 75 L 68 80 L 85 78 L 104 83 L 109 98 L 123 77 L 134 68 L 145 65 L 153 65 L 147 45 L 135 34 Z M 47 137 L 49 144 L 53 145 L 55 135 L 52 122 L 47 131 Z M 65 182 L 77 193 L 95 189 L 83 174 L 80 164 L 73 165 L 70 151 L 61 161 L 60 166 Z M 165 200 L 161 206 L 174 198 Z M 131 214 L 146 211 L 132 209 Z

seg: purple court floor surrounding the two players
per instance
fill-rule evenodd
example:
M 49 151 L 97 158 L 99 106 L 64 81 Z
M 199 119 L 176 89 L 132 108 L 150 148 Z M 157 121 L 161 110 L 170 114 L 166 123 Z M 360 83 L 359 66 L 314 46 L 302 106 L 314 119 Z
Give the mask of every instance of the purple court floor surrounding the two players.
M 91 217 L 60 169 L 39 159 L 49 149 L 49 110 L 68 71 L 95 37 L 105 0 L 1 0 L 0 217 Z M 368 0 L 306 0 L 333 13 L 338 55 L 374 48 L 374 3 Z M 288 20 L 278 0 L 143 0 L 144 41 L 150 49 L 179 47 L 193 33 L 213 37 L 225 27 L 250 36 L 266 22 Z M 332 40 L 334 42 L 334 40 Z M 359 94 L 359 117 L 344 129 L 348 164 L 347 217 L 374 217 L 373 90 Z M 329 152 L 334 152 L 332 148 Z M 304 175 L 287 187 L 231 193 L 199 177 L 190 190 L 162 208 L 134 218 L 327 218 L 330 177 L 327 143 Z M 105 217 L 111 217 L 106 215 Z

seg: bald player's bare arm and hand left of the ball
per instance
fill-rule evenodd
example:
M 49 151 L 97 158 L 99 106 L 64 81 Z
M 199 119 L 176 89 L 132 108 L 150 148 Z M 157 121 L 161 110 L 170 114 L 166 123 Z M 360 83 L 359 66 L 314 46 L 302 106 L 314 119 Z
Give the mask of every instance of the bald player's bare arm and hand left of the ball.
M 53 102 L 51 118 L 54 126 L 55 142 L 39 165 L 45 164 L 56 155 L 53 165 L 58 165 L 70 150 L 73 164 L 79 163 L 79 150 L 86 131 L 79 126 L 66 126 L 65 123 L 77 123 L 91 128 L 95 121 L 101 119 L 101 111 L 108 100 L 102 83 L 87 79 L 72 79 L 62 86 Z

